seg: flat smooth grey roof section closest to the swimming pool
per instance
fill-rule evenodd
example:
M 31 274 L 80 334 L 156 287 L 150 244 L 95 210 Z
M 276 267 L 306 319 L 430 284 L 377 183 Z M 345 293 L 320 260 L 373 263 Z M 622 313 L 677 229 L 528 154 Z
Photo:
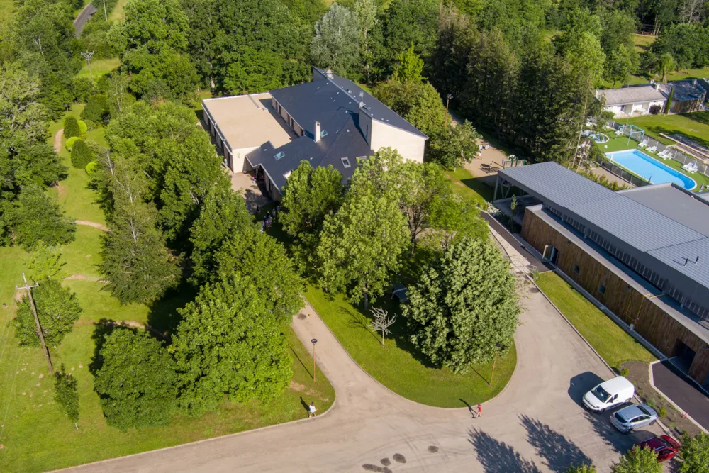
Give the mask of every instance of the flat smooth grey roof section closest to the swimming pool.
M 635 187 L 619 191 L 618 194 L 623 194 L 683 226 L 709 236 L 709 202 L 698 199 L 696 194 L 676 184 L 668 182 Z

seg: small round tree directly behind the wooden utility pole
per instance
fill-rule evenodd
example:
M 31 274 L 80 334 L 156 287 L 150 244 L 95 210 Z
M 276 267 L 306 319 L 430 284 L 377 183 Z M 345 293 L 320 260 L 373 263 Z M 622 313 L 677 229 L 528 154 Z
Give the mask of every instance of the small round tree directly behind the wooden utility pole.
M 45 279 L 39 284 L 33 289 L 32 296 L 42 335 L 48 346 L 59 345 L 65 335 L 74 328 L 74 322 L 79 320 L 82 308 L 79 306 L 77 295 L 63 288 L 55 279 Z M 23 299 L 18 305 L 14 324 L 15 336 L 22 345 L 40 346 L 37 324 L 29 299 Z

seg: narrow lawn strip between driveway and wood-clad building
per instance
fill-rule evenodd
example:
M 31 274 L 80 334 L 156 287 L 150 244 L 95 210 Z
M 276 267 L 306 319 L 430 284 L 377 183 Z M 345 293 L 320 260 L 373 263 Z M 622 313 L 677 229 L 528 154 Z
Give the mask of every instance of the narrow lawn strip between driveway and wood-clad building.
M 608 365 L 619 367 L 631 360 L 655 360 L 652 353 L 554 272 L 540 274 L 537 285 Z

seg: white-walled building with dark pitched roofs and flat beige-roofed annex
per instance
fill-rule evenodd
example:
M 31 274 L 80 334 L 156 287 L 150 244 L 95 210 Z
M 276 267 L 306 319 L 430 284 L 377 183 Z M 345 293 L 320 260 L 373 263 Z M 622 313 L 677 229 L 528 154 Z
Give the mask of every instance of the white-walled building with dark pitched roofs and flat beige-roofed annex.
M 273 199 L 305 160 L 346 181 L 381 148 L 423 162 L 428 136 L 354 82 L 313 67 L 313 81 L 202 101 L 204 121 L 233 172 L 255 171 Z

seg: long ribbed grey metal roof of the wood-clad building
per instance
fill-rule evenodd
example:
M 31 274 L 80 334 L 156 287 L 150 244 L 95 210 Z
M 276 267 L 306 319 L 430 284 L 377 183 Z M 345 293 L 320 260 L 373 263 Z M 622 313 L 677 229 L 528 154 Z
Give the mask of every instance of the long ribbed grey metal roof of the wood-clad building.
M 676 217 L 669 208 L 661 213 L 628 193 L 610 191 L 555 162 L 501 169 L 498 176 L 596 231 L 686 296 L 709 307 L 709 238 L 698 231 L 703 226 L 694 230 L 681 222 L 691 218 L 688 214 Z M 707 218 L 707 206 L 693 208 L 700 210 L 694 218 Z M 701 264 L 684 264 L 697 256 Z

